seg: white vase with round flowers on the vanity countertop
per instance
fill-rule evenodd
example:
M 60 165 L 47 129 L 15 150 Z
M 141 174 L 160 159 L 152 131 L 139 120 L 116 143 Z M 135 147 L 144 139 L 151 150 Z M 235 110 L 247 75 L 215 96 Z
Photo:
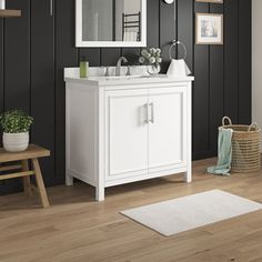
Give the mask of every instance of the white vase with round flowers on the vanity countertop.
M 161 49 L 159 48 L 150 48 L 143 49 L 141 51 L 141 57 L 139 58 L 139 62 L 141 64 L 149 66 L 148 73 L 149 74 L 158 74 L 161 71 Z

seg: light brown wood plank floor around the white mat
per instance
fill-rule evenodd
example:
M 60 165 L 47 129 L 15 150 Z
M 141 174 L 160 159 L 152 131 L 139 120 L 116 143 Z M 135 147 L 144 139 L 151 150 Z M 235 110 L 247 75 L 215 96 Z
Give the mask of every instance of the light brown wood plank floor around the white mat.
M 23 194 L 0 196 L 1 262 L 223 262 L 262 261 L 262 211 L 164 238 L 119 211 L 221 189 L 262 202 L 262 174 L 205 174 L 214 160 L 194 163 L 194 182 L 181 175 L 107 190 L 97 203 L 83 183 L 48 190 L 51 208 Z

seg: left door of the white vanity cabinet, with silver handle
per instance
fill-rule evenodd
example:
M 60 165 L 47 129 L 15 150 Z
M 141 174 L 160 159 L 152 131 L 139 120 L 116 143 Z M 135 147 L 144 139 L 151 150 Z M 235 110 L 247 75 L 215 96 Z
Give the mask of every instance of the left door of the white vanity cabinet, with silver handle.
M 105 92 L 105 181 L 148 175 L 147 104 L 148 90 Z

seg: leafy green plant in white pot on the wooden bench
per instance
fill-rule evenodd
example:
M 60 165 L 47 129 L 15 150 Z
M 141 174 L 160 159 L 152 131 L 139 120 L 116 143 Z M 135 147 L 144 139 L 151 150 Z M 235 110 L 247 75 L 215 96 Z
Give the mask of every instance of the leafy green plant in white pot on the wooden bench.
M 3 130 L 3 148 L 9 152 L 22 152 L 29 145 L 29 130 L 33 118 L 22 110 L 10 110 L 0 114 Z

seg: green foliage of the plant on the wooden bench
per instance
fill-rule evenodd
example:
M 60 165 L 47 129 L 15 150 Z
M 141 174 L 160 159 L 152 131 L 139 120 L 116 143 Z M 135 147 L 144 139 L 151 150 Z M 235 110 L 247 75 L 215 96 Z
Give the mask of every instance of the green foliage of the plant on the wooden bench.
M 4 133 L 26 133 L 32 123 L 33 118 L 22 110 L 10 110 L 0 114 L 0 125 Z

